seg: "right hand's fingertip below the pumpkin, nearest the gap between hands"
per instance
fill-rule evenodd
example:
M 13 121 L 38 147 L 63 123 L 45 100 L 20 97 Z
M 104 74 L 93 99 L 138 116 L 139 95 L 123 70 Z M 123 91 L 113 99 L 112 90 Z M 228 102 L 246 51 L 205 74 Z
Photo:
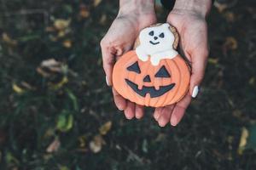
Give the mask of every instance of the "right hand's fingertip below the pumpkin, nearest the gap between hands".
M 172 116 L 172 110 L 174 105 L 168 105 L 164 107 L 160 113 L 160 117 L 157 120 L 160 127 L 165 127 L 168 122 L 170 122 L 170 118 Z

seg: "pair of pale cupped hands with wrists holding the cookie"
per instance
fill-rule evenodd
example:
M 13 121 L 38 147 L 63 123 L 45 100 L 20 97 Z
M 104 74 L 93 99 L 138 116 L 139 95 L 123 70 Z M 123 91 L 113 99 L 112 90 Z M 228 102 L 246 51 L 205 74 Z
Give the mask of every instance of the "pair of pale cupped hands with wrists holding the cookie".
M 160 127 L 166 126 L 168 122 L 176 126 L 181 121 L 192 99 L 193 89 L 200 86 L 204 77 L 208 56 L 206 17 L 211 4 L 211 0 L 176 0 L 167 17 L 166 22 L 177 28 L 181 54 L 189 59 L 192 70 L 188 94 L 175 105 L 155 109 L 154 119 Z M 101 42 L 103 68 L 108 86 L 112 86 L 114 62 L 131 50 L 140 30 L 156 22 L 153 0 L 119 1 L 119 14 Z M 112 91 L 115 105 L 125 112 L 127 119 L 143 117 L 142 105 L 124 99 L 114 88 Z

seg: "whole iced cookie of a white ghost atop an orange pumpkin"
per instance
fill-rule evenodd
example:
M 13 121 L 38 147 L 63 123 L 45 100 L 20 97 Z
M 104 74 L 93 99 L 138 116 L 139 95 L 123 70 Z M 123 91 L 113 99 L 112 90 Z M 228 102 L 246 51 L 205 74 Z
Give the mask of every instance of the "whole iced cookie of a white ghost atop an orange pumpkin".
M 160 107 L 177 103 L 188 92 L 190 72 L 177 54 L 177 31 L 169 24 L 143 29 L 135 50 L 113 67 L 113 88 L 138 105 Z

